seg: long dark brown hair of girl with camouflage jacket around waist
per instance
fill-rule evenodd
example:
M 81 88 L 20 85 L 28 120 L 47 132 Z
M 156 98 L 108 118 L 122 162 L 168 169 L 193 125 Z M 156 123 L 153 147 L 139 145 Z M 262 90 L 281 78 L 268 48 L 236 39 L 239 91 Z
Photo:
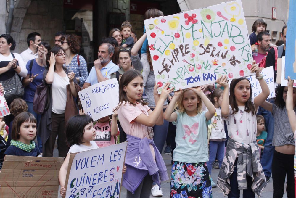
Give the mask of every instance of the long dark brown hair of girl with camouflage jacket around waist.
M 237 85 L 237 83 L 239 81 L 242 81 L 242 80 L 247 80 L 250 83 L 249 79 L 247 79 L 247 78 L 234 78 L 230 83 L 230 87 L 229 87 L 229 104 L 230 104 L 231 109 L 233 111 L 232 114 L 239 111 L 239 108 L 237 106 L 237 101 L 236 101 L 235 95 L 234 95 L 234 88 Z M 248 112 L 248 113 L 252 112 L 253 115 L 256 114 L 255 106 L 252 104 L 252 86 L 251 86 L 251 83 L 250 83 L 250 97 L 249 97 L 249 99 L 247 100 L 247 102 L 244 105 L 245 105 L 244 110 L 246 112 Z

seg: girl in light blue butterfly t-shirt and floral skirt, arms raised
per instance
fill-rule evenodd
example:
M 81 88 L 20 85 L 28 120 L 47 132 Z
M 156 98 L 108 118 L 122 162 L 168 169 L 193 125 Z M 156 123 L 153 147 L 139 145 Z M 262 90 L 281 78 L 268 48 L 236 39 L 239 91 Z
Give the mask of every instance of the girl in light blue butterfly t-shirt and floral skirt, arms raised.
M 202 111 L 204 102 L 208 111 Z M 176 112 L 173 112 L 176 104 Z M 180 89 L 164 113 L 164 119 L 177 126 L 176 148 L 170 179 L 170 197 L 211 197 L 212 186 L 207 169 L 207 125 L 215 106 L 200 87 Z

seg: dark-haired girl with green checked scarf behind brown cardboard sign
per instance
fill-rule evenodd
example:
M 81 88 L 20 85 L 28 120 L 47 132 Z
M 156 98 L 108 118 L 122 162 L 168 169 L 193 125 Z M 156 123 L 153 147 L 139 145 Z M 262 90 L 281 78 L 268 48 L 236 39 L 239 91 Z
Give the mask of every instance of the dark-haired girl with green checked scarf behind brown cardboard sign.
M 28 112 L 22 112 L 15 117 L 12 123 L 10 146 L 4 155 L 20 155 L 37 157 L 40 154 L 36 138 L 36 118 Z

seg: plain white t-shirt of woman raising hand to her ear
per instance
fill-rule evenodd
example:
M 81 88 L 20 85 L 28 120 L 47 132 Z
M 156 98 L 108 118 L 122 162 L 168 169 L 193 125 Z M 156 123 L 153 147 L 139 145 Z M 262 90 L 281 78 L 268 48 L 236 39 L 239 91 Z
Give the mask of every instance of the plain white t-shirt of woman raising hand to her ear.
M 69 78 L 67 75 L 62 77 L 54 72 L 52 82 L 52 111 L 54 113 L 65 113 L 68 84 Z

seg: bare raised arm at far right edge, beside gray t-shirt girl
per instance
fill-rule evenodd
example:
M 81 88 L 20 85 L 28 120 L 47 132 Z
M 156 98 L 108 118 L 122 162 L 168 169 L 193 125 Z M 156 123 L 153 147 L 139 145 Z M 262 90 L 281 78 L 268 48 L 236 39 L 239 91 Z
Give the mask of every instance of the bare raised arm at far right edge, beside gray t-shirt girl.
M 294 112 L 294 101 L 293 101 L 293 83 L 294 80 L 291 80 L 290 76 L 288 76 L 288 92 L 287 92 L 287 100 L 286 100 L 286 108 L 289 117 L 289 122 L 293 132 L 296 130 L 296 115 Z

